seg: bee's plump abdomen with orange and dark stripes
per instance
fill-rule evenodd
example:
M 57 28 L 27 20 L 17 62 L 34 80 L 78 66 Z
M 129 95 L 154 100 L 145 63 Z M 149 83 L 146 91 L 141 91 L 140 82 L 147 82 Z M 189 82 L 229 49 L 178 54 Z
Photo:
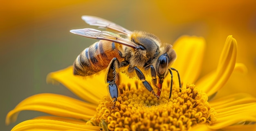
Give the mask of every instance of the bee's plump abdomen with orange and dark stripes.
M 73 73 L 82 76 L 92 75 L 106 69 L 114 57 L 121 62 L 122 50 L 122 45 L 115 42 L 105 40 L 95 42 L 77 56 Z

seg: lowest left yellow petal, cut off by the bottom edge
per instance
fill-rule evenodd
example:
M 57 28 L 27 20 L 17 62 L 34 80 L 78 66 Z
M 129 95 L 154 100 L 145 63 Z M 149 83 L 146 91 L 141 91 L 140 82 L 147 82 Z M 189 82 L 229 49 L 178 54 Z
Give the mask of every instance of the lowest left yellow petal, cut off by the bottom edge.
M 11 131 L 99 131 L 100 127 L 73 124 L 58 120 L 26 120 L 17 124 Z

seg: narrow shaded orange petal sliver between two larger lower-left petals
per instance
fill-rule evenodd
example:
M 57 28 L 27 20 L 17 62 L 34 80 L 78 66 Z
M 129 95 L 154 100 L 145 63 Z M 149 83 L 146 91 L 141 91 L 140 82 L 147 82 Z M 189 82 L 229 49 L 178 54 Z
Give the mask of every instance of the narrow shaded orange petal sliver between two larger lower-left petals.
M 58 121 L 68 122 L 73 124 L 84 124 L 84 125 L 86 124 L 84 120 L 75 120 L 75 119 L 62 118 L 57 116 L 38 116 L 34 119 L 58 120 Z

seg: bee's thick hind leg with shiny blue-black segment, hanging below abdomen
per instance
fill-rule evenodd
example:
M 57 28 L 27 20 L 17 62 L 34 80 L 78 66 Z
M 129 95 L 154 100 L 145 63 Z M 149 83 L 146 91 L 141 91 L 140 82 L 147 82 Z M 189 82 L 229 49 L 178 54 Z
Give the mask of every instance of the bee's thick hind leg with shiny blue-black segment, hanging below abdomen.
M 118 97 L 118 88 L 117 88 L 117 72 L 116 69 L 118 68 L 119 61 L 117 58 L 113 58 L 108 65 L 108 73 L 106 75 L 106 82 L 108 83 L 108 91 L 110 96 L 113 100 L 113 107 L 115 106 L 115 102 L 117 101 Z

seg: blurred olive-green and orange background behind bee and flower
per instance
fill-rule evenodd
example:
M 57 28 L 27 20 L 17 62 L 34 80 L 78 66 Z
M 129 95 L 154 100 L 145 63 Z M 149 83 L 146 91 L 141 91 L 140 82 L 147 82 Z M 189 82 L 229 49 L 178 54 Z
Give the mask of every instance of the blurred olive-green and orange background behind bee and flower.
M 256 1 L 87 1 L 9 0 L 0 8 L 0 127 L 10 131 L 19 122 L 43 113 L 22 111 L 8 126 L 5 116 L 20 101 L 37 93 L 76 98 L 46 76 L 73 64 L 76 56 L 97 40 L 70 33 L 88 26 L 81 16 L 105 18 L 129 30 L 155 34 L 173 44 L 182 35 L 203 36 L 207 42 L 203 76 L 213 71 L 228 35 L 238 42 L 237 62 L 248 72 L 234 72 L 217 97 L 245 92 L 256 96 Z

